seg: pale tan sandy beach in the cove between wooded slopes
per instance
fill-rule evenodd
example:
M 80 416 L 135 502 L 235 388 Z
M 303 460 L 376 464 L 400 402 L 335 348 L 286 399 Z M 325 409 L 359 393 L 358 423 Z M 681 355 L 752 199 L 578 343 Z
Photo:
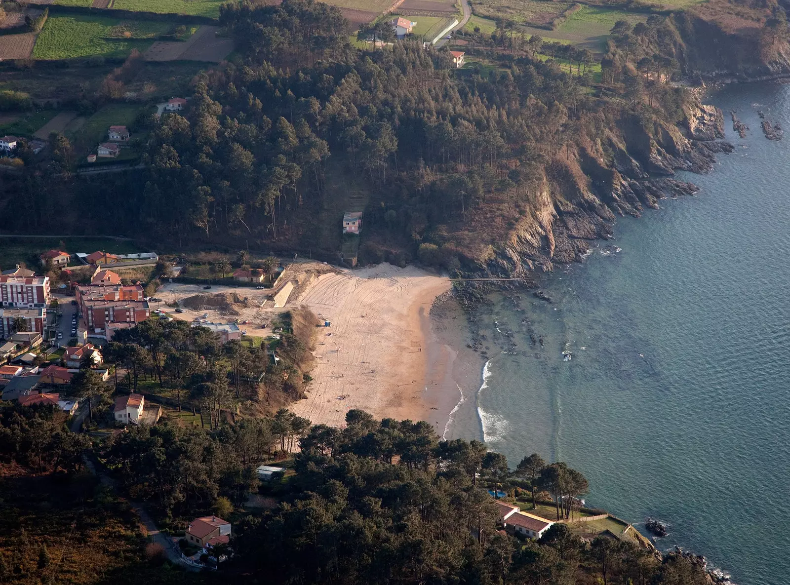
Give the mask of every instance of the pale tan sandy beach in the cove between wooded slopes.
M 375 418 L 427 420 L 442 434 L 459 392 L 453 350 L 431 332 L 431 305 L 450 279 L 379 264 L 324 274 L 289 304 L 310 308 L 320 328 L 307 399 L 292 411 L 342 427 L 360 408 Z M 450 405 L 450 406 L 448 406 Z

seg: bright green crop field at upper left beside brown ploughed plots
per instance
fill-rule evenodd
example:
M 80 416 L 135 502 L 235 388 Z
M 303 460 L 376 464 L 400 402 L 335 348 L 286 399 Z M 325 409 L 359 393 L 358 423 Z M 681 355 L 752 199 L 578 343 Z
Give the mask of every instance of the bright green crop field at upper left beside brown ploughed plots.
M 47 18 L 33 57 L 68 59 L 103 55 L 126 57 L 132 49 L 143 52 L 172 24 L 154 21 L 120 21 L 115 18 L 53 15 Z

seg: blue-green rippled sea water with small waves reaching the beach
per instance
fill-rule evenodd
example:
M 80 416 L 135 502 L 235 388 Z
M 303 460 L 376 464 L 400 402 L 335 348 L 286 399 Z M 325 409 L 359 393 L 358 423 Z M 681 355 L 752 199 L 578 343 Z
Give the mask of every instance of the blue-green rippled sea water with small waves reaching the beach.
M 680 176 L 698 196 L 619 219 L 615 240 L 550 275 L 553 303 L 495 297 L 480 317 L 491 359 L 477 407 L 511 466 L 531 452 L 564 460 L 589 478 L 589 504 L 638 527 L 667 522 L 661 549 L 703 553 L 739 585 L 784 585 L 790 133 L 766 140 L 758 110 L 790 130 L 790 87 L 733 85 L 706 101 L 724 110 L 735 152 Z M 730 110 L 751 128 L 743 140 Z

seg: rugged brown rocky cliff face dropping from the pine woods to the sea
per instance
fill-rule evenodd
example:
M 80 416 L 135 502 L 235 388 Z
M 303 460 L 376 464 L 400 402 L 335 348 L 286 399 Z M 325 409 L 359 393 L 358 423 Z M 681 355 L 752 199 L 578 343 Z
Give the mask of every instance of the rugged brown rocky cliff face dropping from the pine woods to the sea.
M 545 167 L 532 211 L 478 269 L 525 276 L 581 261 L 592 241 L 611 238 L 617 216 L 638 217 L 662 197 L 696 192 L 696 186 L 673 175 L 710 171 L 715 153 L 732 151 L 723 138 L 724 117 L 713 106 L 690 107 L 680 126 L 645 124 L 632 114 L 619 118 L 606 136 L 581 146 L 576 156 Z

